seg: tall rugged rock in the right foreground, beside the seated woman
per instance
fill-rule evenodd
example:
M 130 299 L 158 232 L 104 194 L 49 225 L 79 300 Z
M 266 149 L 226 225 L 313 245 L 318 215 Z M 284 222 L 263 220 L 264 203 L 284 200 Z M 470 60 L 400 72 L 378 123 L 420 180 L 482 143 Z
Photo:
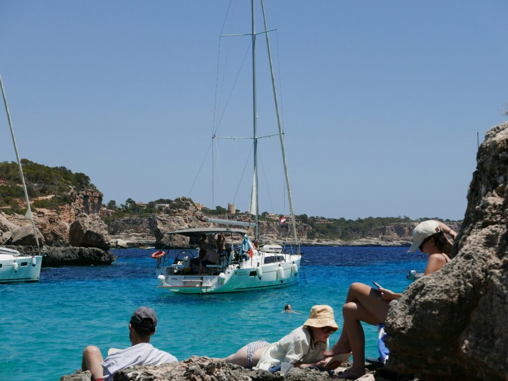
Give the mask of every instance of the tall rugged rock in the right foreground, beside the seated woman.
M 508 380 L 508 123 L 487 132 L 477 161 L 453 260 L 386 321 L 388 365 L 425 380 Z

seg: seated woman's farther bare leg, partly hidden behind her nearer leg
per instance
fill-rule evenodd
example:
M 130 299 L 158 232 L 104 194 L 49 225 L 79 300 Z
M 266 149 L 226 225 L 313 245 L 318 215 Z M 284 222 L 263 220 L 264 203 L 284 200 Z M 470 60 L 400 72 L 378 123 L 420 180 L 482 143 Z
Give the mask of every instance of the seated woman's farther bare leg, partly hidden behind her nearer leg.
M 388 309 L 390 308 L 388 302 L 383 300 L 381 294 L 377 290 L 373 289 L 370 286 L 364 285 L 363 283 L 353 283 L 350 286 L 347 292 L 346 304 L 350 302 L 359 302 L 369 312 L 370 320 L 375 320 L 376 323 L 370 323 L 365 320 L 362 321 L 373 325 L 384 323 Z M 374 320 L 371 318 L 374 318 Z M 331 357 L 340 355 L 342 353 L 351 352 L 350 339 L 344 326 L 342 327 L 342 332 L 340 333 L 339 340 L 329 351 L 325 352 L 325 357 Z

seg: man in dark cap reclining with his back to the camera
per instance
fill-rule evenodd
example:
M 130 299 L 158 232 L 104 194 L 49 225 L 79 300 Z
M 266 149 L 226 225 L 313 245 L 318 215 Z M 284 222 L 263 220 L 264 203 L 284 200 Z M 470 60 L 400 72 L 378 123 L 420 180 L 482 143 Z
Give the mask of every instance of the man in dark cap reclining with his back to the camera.
M 89 370 L 92 381 L 112 380 L 117 371 L 133 365 L 164 364 L 178 361 L 167 352 L 160 351 L 149 343 L 155 333 L 157 317 L 149 307 L 139 307 L 134 311 L 129 323 L 129 338 L 132 347 L 124 350 L 110 349 L 103 361 L 101 351 L 88 345 L 83 351 L 81 368 Z

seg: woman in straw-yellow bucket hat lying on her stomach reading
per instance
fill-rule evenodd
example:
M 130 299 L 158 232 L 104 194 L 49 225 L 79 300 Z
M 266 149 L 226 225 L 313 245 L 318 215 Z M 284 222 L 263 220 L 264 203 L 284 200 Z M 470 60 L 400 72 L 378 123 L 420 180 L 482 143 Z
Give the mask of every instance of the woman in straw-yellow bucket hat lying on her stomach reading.
M 324 359 L 323 351 L 329 348 L 328 336 L 338 328 L 332 307 L 314 305 L 305 323 L 279 341 L 272 344 L 267 341 L 251 342 L 223 360 L 249 369 L 280 370 L 281 374 L 293 367 L 333 369 L 340 362 L 335 358 Z

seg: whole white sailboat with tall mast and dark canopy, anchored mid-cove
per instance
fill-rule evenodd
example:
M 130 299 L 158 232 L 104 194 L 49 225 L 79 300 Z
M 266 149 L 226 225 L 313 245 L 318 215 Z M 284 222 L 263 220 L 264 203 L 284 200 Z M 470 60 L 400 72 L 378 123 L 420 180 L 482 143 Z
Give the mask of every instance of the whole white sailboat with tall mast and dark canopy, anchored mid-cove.
M 289 183 L 288 166 L 285 160 L 283 134 L 281 128 L 280 114 L 277 102 L 277 93 L 273 73 L 268 28 L 266 24 L 265 8 L 261 0 L 265 30 L 259 34 L 265 34 L 268 48 L 268 58 L 272 78 L 273 96 L 275 111 L 278 122 L 278 136 L 284 166 L 285 184 L 287 188 L 288 201 L 293 225 L 296 252 L 287 252 L 280 245 L 263 245 L 257 248 L 247 236 L 247 230 L 239 228 L 196 228 L 183 229 L 168 232 L 169 244 L 171 247 L 175 236 L 183 235 L 194 239 L 196 242 L 203 235 L 208 238 L 215 234 L 222 234 L 226 238 L 225 250 L 217 253 L 217 262 L 206 266 L 206 274 L 199 273 L 198 253 L 190 250 L 175 250 L 174 260 L 170 260 L 170 251 L 156 252 L 152 255 L 157 259 L 157 281 L 159 288 L 167 289 L 177 293 L 226 293 L 249 290 L 260 290 L 291 286 L 298 283 L 298 272 L 301 263 L 300 246 L 296 232 L 296 221 L 293 213 L 293 200 Z M 252 95 L 253 95 L 253 161 L 254 173 L 250 200 L 250 214 L 255 218 L 253 223 L 238 222 L 230 220 L 207 219 L 208 222 L 218 225 L 250 226 L 254 228 L 255 239 L 259 239 L 259 206 L 258 206 L 258 136 L 257 110 L 256 110 L 256 22 L 255 22 L 255 0 L 251 2 L 252 15 Z M 224 35 L 235 36 L 235 35 Z M 276 136 L 277 134 L 275 134 Z M 274 136 L 274 135 L 270 135 Z M 213 136 L 213 138 L 224 138 Z M 211 241 L 211 240 L 209 240 Z M 241 245 L 239 245 L 241 242 Z M 217 248 L 209 249 L 216 250 Z

